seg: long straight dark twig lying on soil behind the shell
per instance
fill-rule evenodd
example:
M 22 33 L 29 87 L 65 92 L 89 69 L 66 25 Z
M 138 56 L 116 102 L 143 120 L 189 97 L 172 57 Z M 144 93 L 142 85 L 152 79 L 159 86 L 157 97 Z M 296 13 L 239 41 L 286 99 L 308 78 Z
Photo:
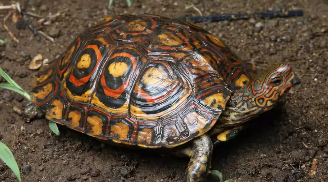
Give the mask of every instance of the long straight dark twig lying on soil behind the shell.
M 248 20 L 250 18 L 290 18 L 296 16 L 303 16 L 303 14 L 304 14 L 303 10 L 291 10 L 288 12 L 266 11 L 266 12 L 256 12 L 253 14 L 231 13 L 231 14 L 216 14 L 216 15 L 208 15 L 208 16 L 188 16 L 179 19 L 190 21 L 193 23 L 200 23 L 200 22 Z

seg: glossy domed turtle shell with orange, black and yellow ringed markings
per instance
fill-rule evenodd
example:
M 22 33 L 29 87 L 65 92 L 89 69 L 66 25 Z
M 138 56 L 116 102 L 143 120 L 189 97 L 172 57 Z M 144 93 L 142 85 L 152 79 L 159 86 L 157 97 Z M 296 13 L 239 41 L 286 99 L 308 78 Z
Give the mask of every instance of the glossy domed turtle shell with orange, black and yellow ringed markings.
M 255 71 L 192 23 L 122 15 L 79 34 L 32 97 L 47 119 L 90 136 L 170 148 L 211 129 Z

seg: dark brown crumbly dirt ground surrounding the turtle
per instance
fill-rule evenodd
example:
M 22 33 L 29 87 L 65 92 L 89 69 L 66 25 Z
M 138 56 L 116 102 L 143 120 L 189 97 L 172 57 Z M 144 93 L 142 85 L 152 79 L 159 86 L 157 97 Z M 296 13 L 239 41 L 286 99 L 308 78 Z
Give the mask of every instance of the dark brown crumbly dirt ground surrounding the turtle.
M 42 16 L 61 13 L 48 25 L 31 18 L 55 42 L 19 30 L 8 19 L 20 42 L 0 26 L 0 39 L 6 40 L 0 46 L 0 66 L 28 90 L 36 75 L 28 68 L 31 58 L 41 54 L 52 60 L 78 32 L 116 14 L 198 15 L 193 8 L 185 9 L 191 3 L 205 15 L 301 8 L 305 14 L 297 18 L 199 24 L 259 69 L 288 62 L 301 79 L 282 109 L 261 115 L 236 139 L 217 146 L 212 168 L 237 182 L 328 182 L 327 0 L 134 0 L 131 7 L 125 0 L 115 1 L 109 9 L 108 0 L 33 0 L 28 11 Z M 1 23 L 7 12 L 0 11 Z M 22 96 L 1 90 L 0 102 L 0 141 L 13 151 L 24 182 L 186 181 L 188 158 L 105 145 L 65 127 L 55 136 L 45 119 L 26 123 L 13 111 L 13 106 L 27 102 Z M 312 165 L 315 159 L 317 165 Z M 309 175 L 311 166 L 314 175 Z M 0 181 L 16 182 L 1 162 Z

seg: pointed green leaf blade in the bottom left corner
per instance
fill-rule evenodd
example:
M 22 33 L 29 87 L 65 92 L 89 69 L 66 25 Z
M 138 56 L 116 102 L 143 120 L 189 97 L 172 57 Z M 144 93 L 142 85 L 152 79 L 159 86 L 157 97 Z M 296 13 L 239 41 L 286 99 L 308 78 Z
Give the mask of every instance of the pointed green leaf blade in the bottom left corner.
M 12 170 L 12 172 L 15 174 L 17 179 L 21 182 L 21 175 L 19 173 L 19 168 L 15 160 L 15 157 L 10 151 L 10 149 L 2 142 L 0 142 L 0 158 Z

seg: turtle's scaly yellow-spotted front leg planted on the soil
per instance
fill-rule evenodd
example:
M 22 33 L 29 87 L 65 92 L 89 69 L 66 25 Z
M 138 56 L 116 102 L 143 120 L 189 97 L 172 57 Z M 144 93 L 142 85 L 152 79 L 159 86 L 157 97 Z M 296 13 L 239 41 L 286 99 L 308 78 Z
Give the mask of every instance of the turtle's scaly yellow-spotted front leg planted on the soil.
M 190 156 L 187 182 L 204 182 L 210 173 L 213 145 L 208 135 L 202 135 L 191 141 L 191 146 L 179 149 L 177 154 Z

